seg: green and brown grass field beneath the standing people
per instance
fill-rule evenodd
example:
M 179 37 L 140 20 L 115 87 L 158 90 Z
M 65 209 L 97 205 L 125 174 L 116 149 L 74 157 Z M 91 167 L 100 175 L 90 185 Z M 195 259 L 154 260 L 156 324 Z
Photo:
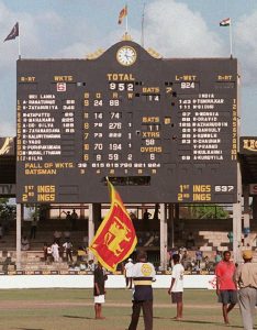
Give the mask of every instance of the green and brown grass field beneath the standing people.
M 224 326 L 214 292 L 186 290 L 185 320 L 174 321 L 176 307 L 165 289 L 154 292 L 154 329 L 243 329 L 238 307 Z M 9 330 L 124 330 L 130 323 L 131 292 L 108 289 L 105 320 L 94 320 L 92 289 L 0 290 L 0 329 Z M 143 330 L 143 319 L 138 330 Z

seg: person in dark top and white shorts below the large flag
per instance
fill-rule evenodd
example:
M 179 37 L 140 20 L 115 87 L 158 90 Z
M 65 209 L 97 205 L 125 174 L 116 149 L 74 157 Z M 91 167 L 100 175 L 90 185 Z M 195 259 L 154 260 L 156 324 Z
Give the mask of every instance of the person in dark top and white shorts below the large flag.
M 107 280 L 107 275 L 104 275 L 102 265 L 98 262 L 98 266 L 93 272 L 93 296 L 94 296 L 94 312 L 96 319 L 102 320 L 102 304 L 105 302 L 105 288 L 104 284 Z

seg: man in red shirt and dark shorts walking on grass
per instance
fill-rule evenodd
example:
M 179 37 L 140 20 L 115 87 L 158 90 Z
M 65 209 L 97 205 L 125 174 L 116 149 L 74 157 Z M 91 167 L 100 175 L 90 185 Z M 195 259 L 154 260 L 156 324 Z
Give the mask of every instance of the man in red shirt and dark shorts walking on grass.
M 216 295 L 222 302 L 222 312 L 225 324 L 228 322 L 228 312 L 237 302 L 237 289 L 235 282 L 235 264 L 231 261 L 231 252 L 223 253 L 223 260 L 216 265 Z

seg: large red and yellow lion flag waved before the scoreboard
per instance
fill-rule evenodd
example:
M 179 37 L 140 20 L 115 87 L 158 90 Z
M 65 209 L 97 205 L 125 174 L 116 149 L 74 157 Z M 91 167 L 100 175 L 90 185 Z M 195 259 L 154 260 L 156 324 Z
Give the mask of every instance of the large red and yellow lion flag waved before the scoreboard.
M 98 261 L 111 272 L 127 258 L 137 243 L 133 222 L 113 185 L 108 180 L 111 208 L 99 227 L 89 249 Z

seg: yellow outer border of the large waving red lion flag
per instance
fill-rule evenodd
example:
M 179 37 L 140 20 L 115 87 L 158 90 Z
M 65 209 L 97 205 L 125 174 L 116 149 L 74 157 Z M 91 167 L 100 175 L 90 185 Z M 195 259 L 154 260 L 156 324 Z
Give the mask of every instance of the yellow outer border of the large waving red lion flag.
M 99 255 L 99 253 L 97 252 L 97 250 L 94 250 L 94 249 L 92 248 L 93 241 L 99 237 L 99 233 L 102 232 L 103 228 L 104 228 L 105 224 L 107 224 L 107 221 L 110 219 L 110 216 L 111 216 L 111 213 L 112 213 L 112 210 L 113 210 L 115 204 L 119 205 L 120 208 L 123 210 L 123 212 L 131 219 L 131 217 L 130 217 L 130 215 L 127 213 L 127 211 L 126 211 L 126 209 L 125 209 L 123 202 L 120 202 L 120 200 L 118 200 L 118 199 L 115 198 L 115 188 L 113 187 L 113 185 L 110 183 L 109 179 L 108 179 L 108 187 L 109 187 L 109 189 L 110 189 L 110 195 L 111 195 L 111 208 L 110 208 L 109 212 L 107 213 L 107 216 L 104 217 L 102 223 L 100 224 L 100 227 L 99 227 L 99 229 L 98 229 L 98 231 L 97 231 L 97 233 L 96 233 L 96 235 L 94 235 L 94 238 L 93 238 L 93 240 L 92 240 L 92 242 L 91 242 L 91 244 L 90 244 L 90 246 L 89 246 L 89 250 L 92 251 L 92 253 L 96 255 L 97 260 L 102 264 L 102 266 L 103 266 L 104 268 L 107 268 L 107 270 L 110 271 L 110 272 L 115 272 L 115 271 L 116 271 L 116 266 L 115 266 L 115 267 L 110 267 L 110 265 L 108 265 L 108 264 L 102 260 L 102 257 Z M 118 193 L 118 194 L 119 194 L 119 193 Z M 120 194 L 119 194 L 119 196 L 120 196 Z M 131 220 L 131 221 L 132 221 L 132 220 Z M 132 222 L 132 223 L 133 223 L 133 222 Z M 134 242 L 133 242 L 131 249 L 128 250 L 128 252 L 127 252 L 127 253 L 125 254 L 125 256 L 123 257 L 123 260 L 127 258 L 127 257 L 133 253 L 133 251 L 135 250 L 136 244 L 137 244 L 137 238 L 136 238 L 136 235 L 135 235 Z

